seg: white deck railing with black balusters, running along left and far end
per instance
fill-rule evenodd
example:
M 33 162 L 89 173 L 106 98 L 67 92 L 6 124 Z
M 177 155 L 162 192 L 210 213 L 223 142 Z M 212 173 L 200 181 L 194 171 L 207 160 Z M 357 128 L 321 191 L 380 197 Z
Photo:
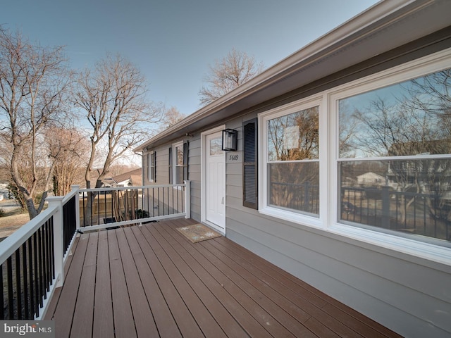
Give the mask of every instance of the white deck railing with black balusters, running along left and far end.
M 0 242 L 0 320 L 44 318 L 78 231 L 190 217 L 190 182 L 79 189 L 47 198 L 49 206 Z M 80 230 L 81 229 L 81 230 Z M 74 291 L 75 292 L 75 291 Z

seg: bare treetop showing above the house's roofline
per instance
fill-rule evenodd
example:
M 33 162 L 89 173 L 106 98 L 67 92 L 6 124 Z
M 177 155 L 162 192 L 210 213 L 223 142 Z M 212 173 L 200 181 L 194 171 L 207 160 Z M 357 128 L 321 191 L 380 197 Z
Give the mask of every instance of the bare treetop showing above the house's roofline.
M 254 56 L 232 49 L 221 61 L 215 61 L 214 65 L 209 66 L 209 72 L 204 78 L 207 86 L 199 91 L 200 104 L 209 104 L 252 79 L 263 69 L 263 63 L 257 63 Z

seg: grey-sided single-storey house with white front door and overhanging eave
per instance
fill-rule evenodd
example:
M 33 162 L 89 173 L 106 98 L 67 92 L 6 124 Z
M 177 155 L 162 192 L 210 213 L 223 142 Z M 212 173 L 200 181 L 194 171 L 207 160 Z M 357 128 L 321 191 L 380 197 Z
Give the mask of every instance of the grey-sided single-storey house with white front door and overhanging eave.
M 451 1 L 381 1 L 139 146 L 144 184 L 190 180 L 194 220 L 406 337 L 450 337 L 450 221 L 432 213 L 442 204 L 400 191 L 381 217 L 355 181 L 390 163 L 451 162 L 374 155 L 384 128 L 449 134 L 438 100 L 451 90 L 450 13 Z M 221 150 L 226 129 L 236 151 Z M 372 218 L 340 210 L 343 196 Z M 420 212 L 438 231 L 406 231 Z M 384 223 L 397 213 L 402 231 Z

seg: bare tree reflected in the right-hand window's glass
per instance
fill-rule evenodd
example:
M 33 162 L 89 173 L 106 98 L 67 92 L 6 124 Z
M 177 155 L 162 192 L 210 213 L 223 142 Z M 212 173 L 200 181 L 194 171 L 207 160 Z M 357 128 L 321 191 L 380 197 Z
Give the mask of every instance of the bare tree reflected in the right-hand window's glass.
M 359 126 L 352 137 L 354 149 L 375 157 L 449 154 L 450 87 L 450 71 L 444 70 L 398 84 L 393 98 L 376 96 L 365 108 L 355 109 L 350 115 Z M 440 212 L 451 185 L 450 169 L 451 161 L 440 158 L 396 158 L 388 163 L 387 180 L 405 193 L 400 196 L 404 208 L 397 211 L 401 223 L 415 194 L 427 196 L 431 215 L 447 217 Z

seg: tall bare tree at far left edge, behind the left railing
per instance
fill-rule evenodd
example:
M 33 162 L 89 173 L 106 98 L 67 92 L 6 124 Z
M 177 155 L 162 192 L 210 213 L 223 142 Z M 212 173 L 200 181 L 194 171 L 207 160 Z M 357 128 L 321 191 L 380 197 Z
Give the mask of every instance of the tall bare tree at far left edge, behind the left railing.
M 39 154 L 45 150 L 45 128 L 63 120 L 68 79 L 62 47 L 35 46 L 20 33 L 0 27 L 0 137 L 11 146 L 11 180 L 25 200 L 30 219 L 42 211 L 49 190 L 53 158 L 50 154 L 39 158 Z M 20 165 L 24 158 L 29 177 L 24 177 Z M 39 190 L 42 199 L 35 206 Z

